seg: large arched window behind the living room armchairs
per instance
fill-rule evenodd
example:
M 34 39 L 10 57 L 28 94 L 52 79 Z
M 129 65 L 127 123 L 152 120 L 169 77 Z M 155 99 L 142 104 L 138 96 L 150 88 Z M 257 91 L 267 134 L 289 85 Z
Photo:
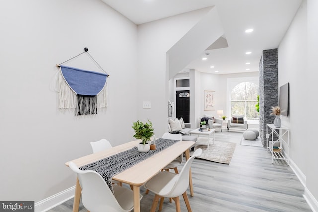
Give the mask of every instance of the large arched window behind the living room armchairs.
M 259 120 L 256 111 L 259 87 L 251 82 L 242 82 L 231 91 L 231 116 L 233 114 L 244 114 L 247 120 Z

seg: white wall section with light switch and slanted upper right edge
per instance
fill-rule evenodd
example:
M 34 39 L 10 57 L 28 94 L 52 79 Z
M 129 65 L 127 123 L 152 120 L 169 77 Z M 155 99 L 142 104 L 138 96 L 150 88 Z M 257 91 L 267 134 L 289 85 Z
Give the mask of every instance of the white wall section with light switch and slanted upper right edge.
M 196 10 L 138 25 L 137 115 L 151 120 L 157 137 L 166 132 L 169 99 L 168 50 L 177 43 L 211 8 Z M 151 108 L 144 109 L 143 101 Z

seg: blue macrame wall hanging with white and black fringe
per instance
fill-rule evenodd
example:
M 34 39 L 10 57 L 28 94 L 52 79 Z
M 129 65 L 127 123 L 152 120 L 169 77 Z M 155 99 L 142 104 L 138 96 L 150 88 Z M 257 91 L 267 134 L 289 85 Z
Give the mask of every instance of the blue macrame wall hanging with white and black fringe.
M 87 48 L 79 55 L 84 53 L 93 59 Z M 106 80 L 109 75 L 94 59 L 93 61 L 103 73 L 68 67 L 62 65 L 63 63 L 57 65 L 59 67 L 58 84 L 60 88 L 59 108 L 75 108 L 75 115 L 88 115 L 97 114 L 97 108 L 108 106 Z

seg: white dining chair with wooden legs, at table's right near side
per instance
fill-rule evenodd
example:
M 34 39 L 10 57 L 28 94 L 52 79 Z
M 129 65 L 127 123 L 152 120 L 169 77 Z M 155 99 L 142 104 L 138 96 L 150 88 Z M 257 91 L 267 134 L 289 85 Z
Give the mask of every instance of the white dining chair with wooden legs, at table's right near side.
M 181 172 L 175 174 L 172 172 L 161 171 L 145 183 L 145 188 L 155 193 L 155 198 L 151 207 L 151 212 L 155 212 L 159 198 L 159 211 L 162 210 L 164 197 L 172 198 L 175 201 L 177 212 L 181 212 L 179 196 L 182 195 L 188 212 L 191 212 L 190 202 L 186 193 L 189 186 L 189 171 L 195 157 L 202 154 L 202 149 L 197 149 L 186 161 Z

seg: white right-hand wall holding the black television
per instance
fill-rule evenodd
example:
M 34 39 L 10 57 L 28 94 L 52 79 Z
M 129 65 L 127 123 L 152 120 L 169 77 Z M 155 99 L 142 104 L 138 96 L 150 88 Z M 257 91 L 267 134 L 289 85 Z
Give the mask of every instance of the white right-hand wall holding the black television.
M 278 86 L 290 83 L 291 166 L 305 185 L 305 198 L 318 210 L 315 96 L 318 78 L 318 2 L 304 0 L 278 48 Z

